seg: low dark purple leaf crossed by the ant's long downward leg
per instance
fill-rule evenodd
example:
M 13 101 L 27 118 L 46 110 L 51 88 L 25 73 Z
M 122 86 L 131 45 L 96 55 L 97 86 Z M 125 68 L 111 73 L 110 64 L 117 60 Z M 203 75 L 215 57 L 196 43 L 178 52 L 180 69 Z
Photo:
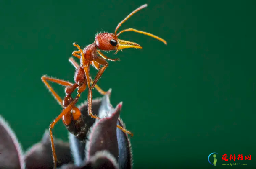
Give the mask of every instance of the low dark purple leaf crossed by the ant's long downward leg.
M 58 165 L 72 162 L 69 143 L 54 139 Z M 45 131 L 41 142 L 34 144 L 25 155 L 26 169 L 53 169 L 53 153 L 50 142 L 50 133 Z

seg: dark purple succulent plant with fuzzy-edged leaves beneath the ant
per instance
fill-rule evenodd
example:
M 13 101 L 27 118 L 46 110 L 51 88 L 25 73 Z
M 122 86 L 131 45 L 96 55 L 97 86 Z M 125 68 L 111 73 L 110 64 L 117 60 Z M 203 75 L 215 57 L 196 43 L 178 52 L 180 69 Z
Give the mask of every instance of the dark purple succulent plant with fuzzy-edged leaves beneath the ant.
M 110 104 L 111 92 L 92 101 L 93 113 L 101 117 L 93 120 L 87 115 L 87 102 L 79 106 L 89 128 L 87 139 L 79 140 L 69 133 L 69 143 L 54 138 L 59 169 L 131 169 L 132 151 L 127 133 L 119 117 L 122 103 Z M 53 169 L 49 131 L 42 140 L 23 154 L 14 132 L 0 116 L 0 169 Z

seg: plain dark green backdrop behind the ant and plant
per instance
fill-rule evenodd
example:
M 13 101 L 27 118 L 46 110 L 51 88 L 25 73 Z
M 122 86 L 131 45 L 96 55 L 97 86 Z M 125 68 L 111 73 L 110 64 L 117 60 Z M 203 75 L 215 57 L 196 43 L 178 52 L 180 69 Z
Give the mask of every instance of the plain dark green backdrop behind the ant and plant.
M 148 3 L 121 28 L 120 38 L 143 49 L 124 49 L 98 85 L 123 101 L 121 118 L 131 138 L 134 167 L 229 168 L 222 155 L 252 155 L 256 168 L 256 33 L 254 0 L 1 1 L 0 114 L 24 150 L 40 141 L 61 107 L 41 82 L 44 74 L 73 82 L 72 46 L 113 32 L 132 10 Z M 92 75 L 96 73 L 92 69 Z M 53 85 L 64 96 L 63 87 Z M 94 90 L 93 97 L 100 97 Z M 87 92 L 80 102 L 87 99 Z M 54 136 L 67 140 L 62 122 Z M 218 166 L 208 162 L 217 152 Z M 213 163 L 213 157 L 211 156 Z M 228 162 L 225 163 L 229 163 Z M 238 162 L 232 161 L 233 162 Z

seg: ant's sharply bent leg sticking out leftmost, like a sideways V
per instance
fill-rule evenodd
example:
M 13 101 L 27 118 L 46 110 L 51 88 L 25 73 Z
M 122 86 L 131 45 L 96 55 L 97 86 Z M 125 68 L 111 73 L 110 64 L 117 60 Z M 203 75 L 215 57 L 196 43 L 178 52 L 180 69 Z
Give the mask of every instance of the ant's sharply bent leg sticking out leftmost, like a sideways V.
M 42 82 L 44 82 L 45 86 L 48 88 L 48 90 L 52 93 L 55 100 L 57 100 L 59 105 L 61 105 L 61 107 L 63 107 L 61 97 L 53 90 L 53 88 L 50 86 L 50 84 L 47 81 L 55 82 L 55 83 L 57 83 L 59 85 L 63 85 L 63 86 L 72 86 L 73 84 L 68 81 L 47 77 L 46 75 L 42 76 L 41 79 L 42 79 Z

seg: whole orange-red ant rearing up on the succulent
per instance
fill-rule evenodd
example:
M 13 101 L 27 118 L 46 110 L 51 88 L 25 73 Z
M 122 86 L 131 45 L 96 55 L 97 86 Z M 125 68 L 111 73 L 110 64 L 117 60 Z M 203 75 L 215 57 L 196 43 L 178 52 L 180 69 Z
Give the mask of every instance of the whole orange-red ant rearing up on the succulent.
M 79 50 L 74 51 L 72 53 L 73 56 L 80 59 L 80 65 L 77 64 L 73 58 L 70 58 L 69 61 L 74 65 L 76 68 L 76 72 L 74 74 L 74 81 L 75 83 L 72 84 L 68 81 L 50 78 L 47 76 L 42 76 L 42 81 L 45 83 L 46 87 L 50 90 L 50 92 L 53 94 L 57 102 L 64 108 L 60 115 L 58 115 L 57 118 L 50 124 L 50 139 L 51 139 L 51 146 L 53 151 L 53 160 L 54 160 L 54 167 L 57 166 L 57 156 L 55 153 L 55 147 L 53 143 L 53 133 L 52 129 L 54 125 L 62 118 L 63 123 L 66 125 L 66 127 L 73 133 L 77 138 L 84 139 L 85 134 L 87 133 L 87 129 L 85 128 L 84 121 L 81 116 L 80 110 L 75 106 L 81 93 L 84 92 L 86 87 L 88 86 L 88 114 L 95 119 L 99 119 L 99 117 L 92 114 L 92 89 L 95 87 L 100 94 L 105 95 L 106 92 L 100 89 L 96 83 L 100 79 L 101 75 L 105 71 L 105 69 L 108 67 L 108 62 L 106 60 L 110 61 L 118 61 L 119 59 L 111 59 L 105 56 L 100 50 L 102 51 L 112 51 L 116 50 L 116 53 L 118 51 L 122 51 L 124 48 L 139 48 L 142 47 L 139 44 L 136 44 L 134 42 L 124 41 L 118 38 L 118 36 L 127 31 L 134 31 L 137 33 L 142 33 L 148 36 L 151 36 L 153 38 L 156 38 L 160 41 L 162 41 L 164 44 L 167 44 L 166 41 L 162 38 L 159 38 L 158 36 L 155 36 L 151 33 L 147 33 L 144 31 L 138 31 L 133 28 L 125 29 L 123 31 L 120 31 L 118 34 L 116 34 L 118 28 L 133 14 L 138 12 L 139 10 L 147 7 L 147 4 L 140 6 L 136 10 L 134 10 L 132 13 L 130 13 L 124 20 L 122 20 L 116 27 L 115 33 L 99 33 L 95 36 L 95 41 L 86 46 L 83 50 L 80 48 L 79 45 L 73 44 L 76 46 Z M 100 50 L 97 50 L 100 49 Z M 115 54 L 116 54 L 115 53 Z M 81 54 L 81 55 L 79 55 Z M 99 57 L 99 56 L 101 57 Z M 97 70 L 98 73 L 92 81 L 90 77 L 90 64 L 92 64 Z M 100 65 L 102 67 L 100 67 Z M 58 96 L 58 94 L 53 90 L 53 88 L 49 85 L 50 82 L 58 83 L 59 85 L 66 86 L 65 93 L 66 97 L 64 100 L 61 100 L 61 97 Z M 71 94 L 74 92 L 74 90 L 77 89 L 77 96 L 73 99 L 71 97 Z M 130 131 L 125 130 L 121 126 L 117 125 L 118 128 L 120 128 L 125 133 L 128 133 L 132 136 L 132 133 Z

